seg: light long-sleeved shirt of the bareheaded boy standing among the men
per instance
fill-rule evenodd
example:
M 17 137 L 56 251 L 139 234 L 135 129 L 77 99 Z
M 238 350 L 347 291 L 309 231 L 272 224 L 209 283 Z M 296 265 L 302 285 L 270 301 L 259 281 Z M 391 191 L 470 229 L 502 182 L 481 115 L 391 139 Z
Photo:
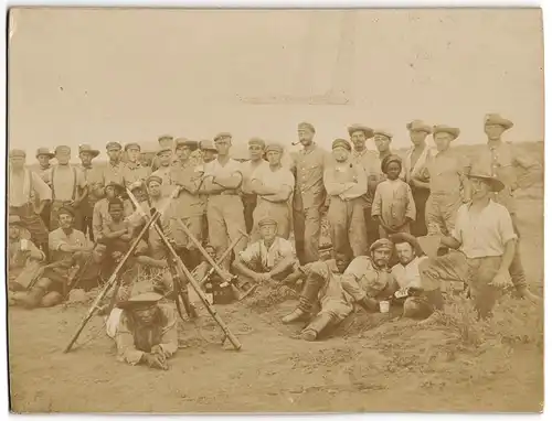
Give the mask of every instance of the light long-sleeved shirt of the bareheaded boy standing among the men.
M 401 179 L 385 180 L 375 188 L 372 216 L 381 216 L 390 228 L 399 228 L 406 223 L 406 218 L 416 219 L 416 205 L 412 190 Z

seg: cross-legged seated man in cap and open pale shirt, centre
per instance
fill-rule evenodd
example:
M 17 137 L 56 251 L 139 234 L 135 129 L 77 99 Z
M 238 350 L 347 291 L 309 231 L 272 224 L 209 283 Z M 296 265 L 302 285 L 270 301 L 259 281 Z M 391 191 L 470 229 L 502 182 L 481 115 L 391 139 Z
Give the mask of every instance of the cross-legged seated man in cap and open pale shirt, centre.
M 236 273 L 253 285 L 282 281 L 297 266 L 294 247 L 288 240 L 277 237 L 277 222 L 270 217 L 259 220 L 261 239 L 252 242 L 234 260 Z

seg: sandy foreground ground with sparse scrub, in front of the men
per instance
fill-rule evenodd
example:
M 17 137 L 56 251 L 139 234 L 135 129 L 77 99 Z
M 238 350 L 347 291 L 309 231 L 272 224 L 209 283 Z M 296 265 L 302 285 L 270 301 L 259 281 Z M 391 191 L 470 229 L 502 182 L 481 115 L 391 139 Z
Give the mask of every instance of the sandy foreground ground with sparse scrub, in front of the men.
M 520 210 L 522 255 L 532 289 L 539 294 L 543 283 L 542 215 L 542 199 L 529 194 Z M 63 354 L 86 306 L 11 310 L 12 410 L 353 412 L 542 408 L 543 357 L 542 345 L 537 344 L 542 341 L 537 331 L 510 345 L 503 345 L 502 339 L 502 345 L 476 347 L 463 342 L 458 331 L 449 326 L 420 328 L 410 321 L 359 314 L 326 341 L 305 343 L 294 338 L 300 325 L 279 323 L 294 304 L 286 301 L 268 310 L 243 303 L 217 306 L 242 342 L 241 352 L 213 343 L 219 334 L 202 309 L 198 322 L 201 328 L 191 322 L 181 323 L 181 349 L 168 371 L 118 363 L 113 343 L 100 330 L 100 317 L 86 327 L 81 346 Z M 519 328 L 526 331 L 523 337 L 535 328 L 530 321 L 519 322 Z M 507 324 L 517 328 L 514 323 Z

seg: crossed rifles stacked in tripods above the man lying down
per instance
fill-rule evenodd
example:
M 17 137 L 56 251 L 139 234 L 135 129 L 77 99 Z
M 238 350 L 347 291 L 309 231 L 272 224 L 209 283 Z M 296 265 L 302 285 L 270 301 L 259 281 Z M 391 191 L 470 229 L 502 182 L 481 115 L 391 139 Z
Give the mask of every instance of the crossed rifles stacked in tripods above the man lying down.
M 221 256 L 221 258 L 219 259 L 219 262 L 216 262 L 211 258 L 211 256 L 206 252 L 206 250 L 201 246 L 200 241 L 195 237 L 193 237 L 192 233 L 190 233 L 188 227 L 179 220 L 184 233 L 192 240 L 192 242 L 194 242 L 195 247 L 199 248 L 199 250 L 205 257 L 206 261 L 211 265 L 211 269 L 205 274 L 203 280 L 198 282 L 193 278 L 192 273 L 188 270 L 185 265 L 182 262 L 182 259 L 174 251 L 172 244 L 169 241 L 169 239 L 167 238 L 167 236 L 162 231 L 161 226 L 159 224 L 160 217 L 167 210 L 171 201 L 179 194 L 179 192 L 180 192 L 180 187 L 174 188 L 174 191 L 172 192 L 172 194 L 170 195 L 169 199 L 163 205 L 163 207 L 161 209 L 152 208 L 151 215 L 147 215 L 145 212 L 141 212 L 142 216 L 147 219 L 146 224 L 144 225 L 142 229 L 140 230 L 138 236 L 135 238 L 135 240 L 130 245 L 130 247 L 127 250 L 127 252 L 125 253 L 125 256 L 119 260 L 117 267 L 113 271 L 112 276 L 109 277 L 109 279 L 105 283 L 105 285 L 102 289 L 102 291 L 99 292 L 99 294 L 94 300 L 92 306 L 88 309 L 86 316 L 83 319 L 77 331 L 73 335 L 73 338 L 71 339 L 71 342 L 68 343 L 68 345 L 64 349 L 64 353 L 68 353 L 73 348 L 73 345 L 75 344 L 76 339 L 78 338 L 78 336 L 83 332 L 86 324 L 94 316 L 94 314 L 96 314 L 97 311 L 100 309 L 99 304 L 102 303 L 102 301 L 108 295 L 109 291 L 114 290 L 113 299 L 110 301 L 109 307 L 107 309 L 108 313 L 110 313 L 110 311 L 113 310 L 113 306 L 115 305 L 117 292 L 118 292 L 118 289 L 119 289 L 120 283 L 121 283 L 121 277 L 119 277 L 119 274 L 121 273 L 121 270 L 124 269 L 124 267 L 127 265 L 128 259 L 134 255 L 140 240 L 144 238 L 144 236 L 146 235 L 148 229 L 150 229 L 151 227 L 153 227 L 156 229 L 157 234 L 161 238 L 161 241 L 163 242 L 163 245 L 169 253 L 168 263 L 169 263 L 169 270 L 170 270 L 171 276 L 172 276 L 173 298 L 174 298 L 174 301 L 177 303 L 177 310 L 179 312 L 179 315 L 183 319 L 182 310 L 180 306 L 180 300 L 182 300 L 182 304 L 184 306 L 184 310 L 185 310 L 188 316 L 190 319 L 198 317 L 195 309 L 190 303 L 190 300 L 188 296 L 188 289 L 187 289 L 187 284 L 184 283 L 184 279 L 185 279 L 192 285 L 192 288 L 195 291 L 195 293 L 198 294 L 201 303 L 208 310 L 211 317 L 213 317 L 214 321 L 216 322 L 216 324 L 219 324 L 219 326 L 221 327 L 223 335 L 224 335 L 222 343 L 224 344 L 224 342 L 226 339 L 229 339 L 236 350 L 240 350 L 242 348 L 242 344 L 240 343 L 237 337 L 230 331 L 227 325 L 223 322 L 221 316 L 216 313 L 216 310 L 209 302 L 205 293 L 202 290 L 202 284 L 204 284 L 206 282 L 206 280 L 209 279 L 209 277 L 211 277 L 214 272 L 216 272 L 229 284 L 233 283 L 235 281 L 235 279 L 233 279 L 233 278 L 229 279 L 229 273 L 225 273 L 220 268 L 220 262 L 222 262 L 224 260 L 224 258 L 229 255 L 229 252 L 232 251 L 232 248 L 235 245 L 235 242 L 229 247 L 229 249 L 224 252 L 224 255 Z M 128 190 L 127 190 L 127 193 L 128 193 L 128 196 L 130 197 L 130 199 L 132 201 L 132 203 L 135 204 L 137 210 L 138 212 L 142 210 L 141 205 L 138 203 L 138 201 L 132 195 L 132 193 Z

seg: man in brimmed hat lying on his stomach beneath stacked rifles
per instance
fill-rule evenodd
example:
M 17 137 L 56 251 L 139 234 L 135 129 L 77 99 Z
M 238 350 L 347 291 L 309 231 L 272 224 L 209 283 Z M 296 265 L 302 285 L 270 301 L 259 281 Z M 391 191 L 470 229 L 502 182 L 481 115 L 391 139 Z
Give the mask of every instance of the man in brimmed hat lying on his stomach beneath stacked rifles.
M 167 370 L 167 359 L 178 350 L 177 316 L 160 304 L 155 292 L 119 301 L 107 321 L 107 335 L 117 344 L 117 359 Z

